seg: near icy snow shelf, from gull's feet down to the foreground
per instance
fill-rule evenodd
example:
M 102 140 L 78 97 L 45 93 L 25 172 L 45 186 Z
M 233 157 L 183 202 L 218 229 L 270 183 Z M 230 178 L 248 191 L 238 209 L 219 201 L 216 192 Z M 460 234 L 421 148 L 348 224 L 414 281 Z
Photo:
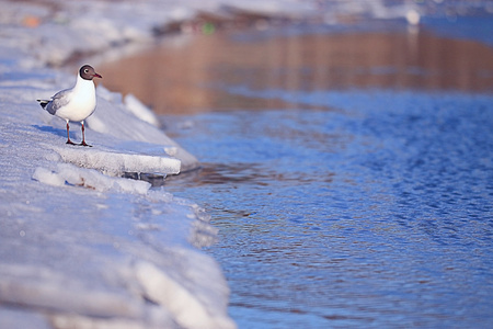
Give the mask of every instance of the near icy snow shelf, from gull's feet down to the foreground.
M 66 145 L 65 122 L 35 102 L 60 88 L 57 73 L 7 76 L 15 79 L 0 80 L 0 328 L 234 328 L 225 277 L 196 249 L 216 239 L 208 216 L 118 177 L 175 173 L 181 161 L 167 150 L 179 147 L 138 141 L 165 135 L 145 135 L 152 125 L 104 98 L 102 114 L 123 113 L 141 136 L 100 117 L 108 133 L 89 125 L 92 148 Z

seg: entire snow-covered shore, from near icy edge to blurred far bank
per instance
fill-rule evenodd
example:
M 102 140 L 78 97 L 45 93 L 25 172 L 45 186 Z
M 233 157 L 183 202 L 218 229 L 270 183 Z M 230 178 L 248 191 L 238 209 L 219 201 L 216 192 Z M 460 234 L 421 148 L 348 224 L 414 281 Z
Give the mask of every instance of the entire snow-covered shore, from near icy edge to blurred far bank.
M 399 1 L 398 1 L 399 2 Z M 348 5 L 352 3 L 352 5 Z M 220 268 L 197 247 L 216 230 L 193 202 L 122 178 L 198 166 L 137 99 L 98 88 L 85 134 L 36 99 L 74 83 L 84 58 L 146 44 L 200 11 L 416 19 L 415 1 L 1 1 L 0 328 L 234 328 Z M 438 1 L 437 1 L 438 3 Z M 408 18 L 409 19 L 409 18 Z M 71 63 L 73 73 L 56 69 Z M 98 69 L 98 68 L 96 68 Z M 71 125 L 74 140 L 80 128 Z

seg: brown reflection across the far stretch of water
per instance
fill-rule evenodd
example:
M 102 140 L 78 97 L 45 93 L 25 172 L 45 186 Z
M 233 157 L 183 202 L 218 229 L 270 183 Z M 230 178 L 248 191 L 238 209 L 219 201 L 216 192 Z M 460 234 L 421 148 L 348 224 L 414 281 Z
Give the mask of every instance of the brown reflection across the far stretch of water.
M 131 92 L 158 113 L 293 106 L 276 99 L 233 95 L 217 88 L 223 86 L 305 91 L 348 87 L 491 91 L 491 47 L 395 30 L 185 36 L 151 52 L 105 64 L 101 70 L 107 88 Z

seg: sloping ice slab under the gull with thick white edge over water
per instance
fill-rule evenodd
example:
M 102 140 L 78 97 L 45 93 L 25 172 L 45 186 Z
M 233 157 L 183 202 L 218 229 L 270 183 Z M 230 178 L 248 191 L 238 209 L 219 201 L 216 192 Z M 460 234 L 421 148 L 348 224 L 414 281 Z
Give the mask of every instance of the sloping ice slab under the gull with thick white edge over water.
M 156 125 L 140 120 L 140 117 L 150 120 L 151 115 L 135 97 L 134 100 L 130 97 L 131 101 L 127 101 L 134 109 L 129 111 L 128 105 L 123 103 L 121 94 L 110 92 L 102 86 L 96 91 L 98 110 L 85 121 L 89 128 L 85 133 L 87 140 L 94 147 L 67 148 L 62 143 L 45 145 L 58 152 L 64 161 L 99 169 L 112 175 L 124 172 L 170 174 L 197 168 L 198 161 L 194 156 L 181 148 Z M 51 93 L 41 92 L 42 98 Z M 59 141 L 66 138 L 66 133 L 62 133 L 65 126 L 62 120 L 42 111 L 39 114 L 46 124 L 59 127 L 41 128 L 57 135 Z M 77 135 L 76 138 L 81 139 L 80 125 L 71 123 L 70 127 L 70 132 Z M 94 136 L 98 136 L 96 143 L 92 141 Z

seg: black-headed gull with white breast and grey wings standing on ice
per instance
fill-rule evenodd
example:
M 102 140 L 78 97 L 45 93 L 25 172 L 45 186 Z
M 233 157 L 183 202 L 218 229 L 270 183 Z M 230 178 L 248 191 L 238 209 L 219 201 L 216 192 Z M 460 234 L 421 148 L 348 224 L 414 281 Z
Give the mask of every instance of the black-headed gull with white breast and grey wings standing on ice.
M 82 143 L 79 145 L 91 146 L 85 143 L 84 120 L 95 110 L 95 88 L 92 79 L 103 78 L 90 65 L 84 65 L 79 69 L 76 86 L 57 92 L 50 100 L 37 100 L 39 105 L 51 115 L 67 121 L 67 144 L 76 145 L 70 140 L 69 122 L 80 122 L 82 124 Z

